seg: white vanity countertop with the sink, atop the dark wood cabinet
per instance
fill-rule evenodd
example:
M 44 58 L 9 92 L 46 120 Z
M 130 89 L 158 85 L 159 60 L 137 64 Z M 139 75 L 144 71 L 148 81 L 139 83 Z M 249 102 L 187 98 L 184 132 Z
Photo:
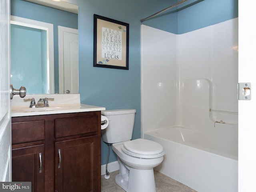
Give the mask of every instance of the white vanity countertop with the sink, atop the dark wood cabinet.
M 50 107 L 29 108 L 26 106 L 12 106 L 12 117 L 33 116 L 33 115 L 49 115 L 61 113 L 76 113 L 106 110 L 104 107 L 85 105 L 85 104 L 68 104 L 56 105 Z

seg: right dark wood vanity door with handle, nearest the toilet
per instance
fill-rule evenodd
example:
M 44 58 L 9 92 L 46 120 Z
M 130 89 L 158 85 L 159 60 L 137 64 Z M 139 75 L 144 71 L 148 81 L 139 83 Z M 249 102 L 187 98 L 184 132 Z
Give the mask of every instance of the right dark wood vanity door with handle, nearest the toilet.
M 56 192 L 100 191 L 98 136 L 56 142 Z

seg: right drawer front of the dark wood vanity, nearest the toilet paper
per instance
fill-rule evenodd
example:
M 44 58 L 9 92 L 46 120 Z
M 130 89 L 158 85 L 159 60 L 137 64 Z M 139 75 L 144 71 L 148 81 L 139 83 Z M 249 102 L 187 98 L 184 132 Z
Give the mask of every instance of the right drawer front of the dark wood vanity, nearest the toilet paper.
M 74 136 L 99 131 L 98 115 L 55 119 L 55 137 Z

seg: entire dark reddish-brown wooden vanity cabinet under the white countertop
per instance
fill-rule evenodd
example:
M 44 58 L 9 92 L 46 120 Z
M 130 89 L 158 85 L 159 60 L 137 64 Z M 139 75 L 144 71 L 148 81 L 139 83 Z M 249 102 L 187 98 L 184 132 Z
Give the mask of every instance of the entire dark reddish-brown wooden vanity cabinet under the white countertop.
M 12 117 L 12 178 L 32 192 L 100 191 L 100 111 Z

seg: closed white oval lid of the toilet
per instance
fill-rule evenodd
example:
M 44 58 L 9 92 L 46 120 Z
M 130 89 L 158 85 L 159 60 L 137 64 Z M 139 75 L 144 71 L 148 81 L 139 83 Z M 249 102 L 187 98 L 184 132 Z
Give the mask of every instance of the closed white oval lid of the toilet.
M 132 153 L 142 155 L 155 155 L 164 151 L 162 145 L 146 139 L 135 139 L 124 142 L 124 148 Z

